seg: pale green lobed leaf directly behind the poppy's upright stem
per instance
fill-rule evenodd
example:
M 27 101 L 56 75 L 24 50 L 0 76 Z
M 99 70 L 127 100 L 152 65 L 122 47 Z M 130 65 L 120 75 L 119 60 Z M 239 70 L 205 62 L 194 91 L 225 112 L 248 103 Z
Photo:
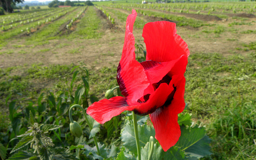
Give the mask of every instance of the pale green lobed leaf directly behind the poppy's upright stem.
M 155 130 L 153 127 L 148 125 L 140 126 L 138 125 L 138 134 L 140 139 L 140 146 L 144 147 L 149 141 L 150 136 L 155 136 Z M 123 145 L 128 149 L 128 151 L 133 152 L 137 155 L 136 139 L 134 136 L 133 124 L 126 124 L 124 130 L 121 133 L 121 140 Z

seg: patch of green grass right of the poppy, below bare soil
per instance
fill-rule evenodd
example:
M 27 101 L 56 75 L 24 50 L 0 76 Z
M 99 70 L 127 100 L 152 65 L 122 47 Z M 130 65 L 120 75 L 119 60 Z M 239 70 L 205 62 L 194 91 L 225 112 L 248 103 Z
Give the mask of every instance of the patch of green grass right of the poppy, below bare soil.
M 216 160 L 236 156 L 250 160 L 256 152 L 255 55 L 195 53 L 189 57 L 185 101 L 193 117 L 205 122 Z

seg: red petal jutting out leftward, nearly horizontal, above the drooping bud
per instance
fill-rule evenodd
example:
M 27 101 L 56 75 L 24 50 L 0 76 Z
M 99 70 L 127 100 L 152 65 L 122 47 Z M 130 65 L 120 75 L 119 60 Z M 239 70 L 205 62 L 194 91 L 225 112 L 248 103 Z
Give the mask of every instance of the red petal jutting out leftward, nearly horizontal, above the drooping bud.
M 105 123 L 112 117 L 120 115 L 123 111 L 132 111 L 124 97 L 113 97 L 111 99 L 102 99 L 94 102 L 88 107 L 86 113 L 99 123 Z

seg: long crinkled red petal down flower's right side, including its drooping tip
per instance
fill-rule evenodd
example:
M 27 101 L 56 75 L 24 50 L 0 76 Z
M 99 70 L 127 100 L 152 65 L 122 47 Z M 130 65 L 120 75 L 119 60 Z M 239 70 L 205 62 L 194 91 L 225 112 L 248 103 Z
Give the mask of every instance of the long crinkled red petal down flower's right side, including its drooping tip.
M 162 106 L 150 114 L 150 119 L 156 130 L 155 138 L 164 151 L 174 146 L 180 137 L 178 113 L 184 110 L 185 78 L 183 75 L 174 75 L 169 86 L 174 86 L 176 91 L 170 105 Z

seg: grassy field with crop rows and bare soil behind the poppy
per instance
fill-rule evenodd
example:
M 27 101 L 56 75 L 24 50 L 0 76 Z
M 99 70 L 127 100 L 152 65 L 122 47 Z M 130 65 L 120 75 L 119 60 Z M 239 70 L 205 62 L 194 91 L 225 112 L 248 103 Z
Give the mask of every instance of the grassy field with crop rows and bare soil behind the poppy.
M 86 65 L 90 73 L 90 95 L 103 99 L 106 90 L 117 85 L 126 17 L 134 8 L 138 12 L 134 24 L 137 46 L 146 49 L 141 36 L 144 24 L 159 20 L 175 22 L 177 33 L 188 44 L 185 112 L 212 139 L 212 155 L 204 159 L 256 159 L 256 3 L 128 2 L 94 2 L 114 18 L 114 24 L 95 6 L 84 11 L 85 7 L 44 8 L 45 13 L 54 14 L 38 14 L 40 18 L 31 22 L 30 13 L 24 12 L 26 16 L 19 16 L 16 27 L 0 31 L 0 142 L 6 146 L 16 136 L 10 131 L 10 102 L 37 107 L 38 99 L 48 102 L 51 94 L 57 100 L 70 91 L 72 68 L 77 65 Z M 0 23 L 5 28 L 14 23 L 7 23 L 6 18 L 3 23 L 3 19 Z M 74 91 L 82 82 L 79 76 Z M 114 133 L 111 139 L 102 131 L 100 138 L 106 138 L 107 144 L 120 136 L 120 130 Z

